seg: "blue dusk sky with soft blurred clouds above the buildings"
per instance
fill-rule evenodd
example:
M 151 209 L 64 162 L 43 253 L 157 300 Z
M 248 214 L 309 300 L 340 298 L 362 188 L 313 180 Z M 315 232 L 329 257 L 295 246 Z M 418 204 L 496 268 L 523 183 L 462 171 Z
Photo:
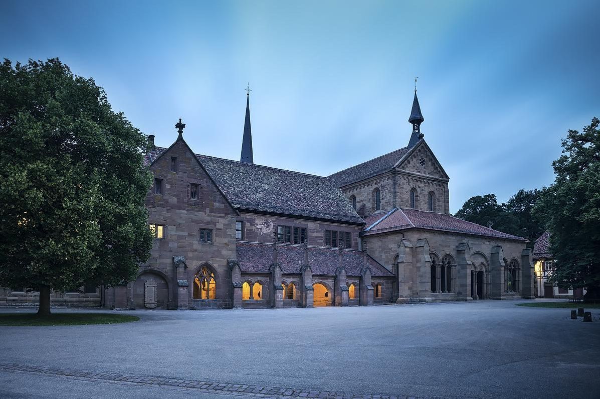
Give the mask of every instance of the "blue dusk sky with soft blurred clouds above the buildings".
M 199 153 L 239 159 L 249 81 L 254 162 L 327 176 L 421 129 L 450 208 L 553 180 L 567 129 L 600 117 L 600 2 L 11 1 L 0 55 L 59 57 L 113 109 Z

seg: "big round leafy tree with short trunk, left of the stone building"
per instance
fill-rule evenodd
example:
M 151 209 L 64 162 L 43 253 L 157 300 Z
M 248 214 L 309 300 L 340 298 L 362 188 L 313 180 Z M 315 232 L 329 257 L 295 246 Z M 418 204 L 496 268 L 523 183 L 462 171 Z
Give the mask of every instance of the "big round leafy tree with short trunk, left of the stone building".
M 129 281 L 149 257 L 144 135 L 59 59 L 0 66 L 0 286 Z

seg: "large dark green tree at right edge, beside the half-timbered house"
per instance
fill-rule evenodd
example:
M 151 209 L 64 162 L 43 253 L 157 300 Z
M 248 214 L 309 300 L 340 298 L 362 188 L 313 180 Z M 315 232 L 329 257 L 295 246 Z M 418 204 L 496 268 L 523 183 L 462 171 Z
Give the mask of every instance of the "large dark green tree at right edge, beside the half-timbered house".
M 586 288 L 584 298 L 600 298 L 600 121 L 583 132 L 569 130 L 563 155 L 552 163 L 556 181 L 533 208 L 547 224 L 554 270 L 550 281 Z

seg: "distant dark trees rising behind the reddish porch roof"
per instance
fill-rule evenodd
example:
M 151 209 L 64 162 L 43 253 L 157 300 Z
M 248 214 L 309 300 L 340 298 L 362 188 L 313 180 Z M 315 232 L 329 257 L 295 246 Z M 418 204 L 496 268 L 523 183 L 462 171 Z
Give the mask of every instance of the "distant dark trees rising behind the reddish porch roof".
M 454 216 L 508 234 L 518 232 L 518 219 L 498 204 L 495 194 L 469 198 Z

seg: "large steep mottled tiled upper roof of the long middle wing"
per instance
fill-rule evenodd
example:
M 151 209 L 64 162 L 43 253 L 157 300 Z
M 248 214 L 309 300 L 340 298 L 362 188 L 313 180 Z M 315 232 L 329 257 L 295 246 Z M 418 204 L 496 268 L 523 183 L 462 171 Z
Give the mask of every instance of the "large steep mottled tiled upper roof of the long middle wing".
M 146 164 L 165 151 L 156 147 L 146 155 Z M 196 157 L 235 208 L 364 224 L 337 183 L 327 177 L 207 155 Z

